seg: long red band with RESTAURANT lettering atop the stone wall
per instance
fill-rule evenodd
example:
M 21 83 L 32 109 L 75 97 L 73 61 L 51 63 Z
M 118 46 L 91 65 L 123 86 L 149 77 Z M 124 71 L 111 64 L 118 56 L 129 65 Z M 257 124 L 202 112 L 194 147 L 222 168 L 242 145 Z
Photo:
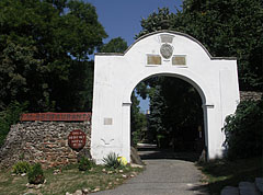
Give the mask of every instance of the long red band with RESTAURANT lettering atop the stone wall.
M 21 122 L 90 122 L 91 113 L 28 113 L 22 114 Z

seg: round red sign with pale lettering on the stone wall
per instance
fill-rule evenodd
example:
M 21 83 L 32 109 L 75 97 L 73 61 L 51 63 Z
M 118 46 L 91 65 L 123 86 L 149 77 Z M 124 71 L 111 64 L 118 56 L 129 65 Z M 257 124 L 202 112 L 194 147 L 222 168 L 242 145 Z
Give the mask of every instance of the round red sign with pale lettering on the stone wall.
M 68 145 L 73 150 L 81 150 L 85 146 L 85 134 L 80 129 L 72 130 L 68 136 Z

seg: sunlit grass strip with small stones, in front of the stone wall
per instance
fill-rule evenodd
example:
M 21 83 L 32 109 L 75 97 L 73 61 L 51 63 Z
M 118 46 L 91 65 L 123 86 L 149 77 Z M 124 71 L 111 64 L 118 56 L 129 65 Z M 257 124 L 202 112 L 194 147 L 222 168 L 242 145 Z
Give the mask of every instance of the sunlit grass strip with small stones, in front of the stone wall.
M 79 171 L 78 164 L 60 169 L 61 172 L 54 174 L 54 170 L 44 170 L 46 183 L 39 190 L 26 187 L 27 176 L 12 175 L 10 170 L 0 172 L 0 195 L 18 195 L 32 192 L 43 195 L 62 195 L 66 192 L 75 193 L 77 190 L 89 188 L 110 190 L 137 175 L 142 169 L 127 165 L 123 169 L 107 169 L 103 165 L 94 165 L 89 171 Z M 126 175 L 126 176 L 124 176 Z

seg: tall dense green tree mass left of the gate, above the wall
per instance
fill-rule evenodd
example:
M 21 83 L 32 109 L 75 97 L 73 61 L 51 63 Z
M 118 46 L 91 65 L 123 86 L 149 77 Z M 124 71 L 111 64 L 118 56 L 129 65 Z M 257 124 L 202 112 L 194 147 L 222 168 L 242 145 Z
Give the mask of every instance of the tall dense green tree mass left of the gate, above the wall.
M 0 108 L 91 110 L 89 55 L 106 37 L 95 8 L 78 0 L 0 1 Z

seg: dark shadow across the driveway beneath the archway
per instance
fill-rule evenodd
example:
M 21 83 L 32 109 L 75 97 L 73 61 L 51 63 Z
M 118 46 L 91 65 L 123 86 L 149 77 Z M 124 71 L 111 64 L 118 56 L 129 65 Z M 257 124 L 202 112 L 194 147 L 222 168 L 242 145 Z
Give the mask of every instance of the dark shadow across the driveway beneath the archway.
M 174 152 L 172 149 L 160 149 L 155 145 L 139 146 L 137 149 L 141 160 L 174 159 L 196 162 L 199 157 L 199 154 L 195 152 Z

